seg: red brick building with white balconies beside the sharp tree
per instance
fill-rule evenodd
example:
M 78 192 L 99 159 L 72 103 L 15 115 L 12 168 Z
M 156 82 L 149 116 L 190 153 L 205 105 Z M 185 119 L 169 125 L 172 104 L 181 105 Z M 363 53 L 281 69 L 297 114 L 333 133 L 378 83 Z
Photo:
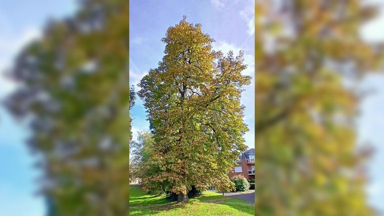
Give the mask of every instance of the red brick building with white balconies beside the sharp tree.
M 237 165 L 228 173 L 229 178 L 242 174 L 248 179 L 254 179 L 254 148 L 244 151 L 235 162 Z

